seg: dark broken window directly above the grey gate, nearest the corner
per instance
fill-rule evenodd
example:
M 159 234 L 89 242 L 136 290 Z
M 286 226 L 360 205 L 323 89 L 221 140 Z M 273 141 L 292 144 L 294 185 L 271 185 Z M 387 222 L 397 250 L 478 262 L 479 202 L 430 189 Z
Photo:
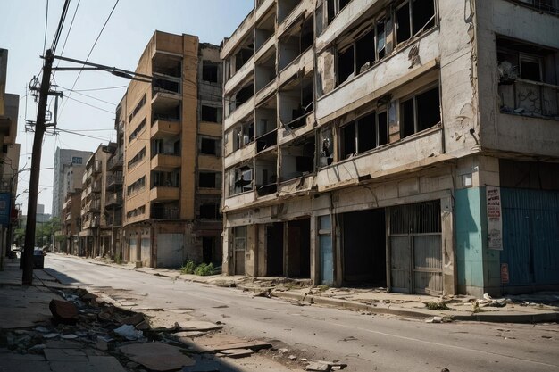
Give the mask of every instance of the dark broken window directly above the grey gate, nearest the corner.
M 400 102 L 400 138 L 431 128 L 439 122 L 438 86 Z

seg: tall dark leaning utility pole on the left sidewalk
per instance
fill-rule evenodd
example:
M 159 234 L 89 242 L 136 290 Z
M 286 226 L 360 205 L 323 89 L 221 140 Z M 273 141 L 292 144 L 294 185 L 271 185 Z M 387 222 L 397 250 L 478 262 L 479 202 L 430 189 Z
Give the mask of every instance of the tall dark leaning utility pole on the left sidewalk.
M 33 153 L 31 155 L 31 173 L 29 178 L 29 200 L 27 205 L 27 226 L 25 228 L 25 245 L 23 251 L 23 276 L 21 285 L 33 284 L 33 248 L 35 247 L 35 223 L 37 221 L 38 180 L 41 169 L 41 152 L 43 136 L 46 131 L 46 101 L 50 91 L 51 72 L 53 70 L 54 54 L 49 49 L 45 54 L 43 79 L 39 90 L 37 121 L 33 138 Z

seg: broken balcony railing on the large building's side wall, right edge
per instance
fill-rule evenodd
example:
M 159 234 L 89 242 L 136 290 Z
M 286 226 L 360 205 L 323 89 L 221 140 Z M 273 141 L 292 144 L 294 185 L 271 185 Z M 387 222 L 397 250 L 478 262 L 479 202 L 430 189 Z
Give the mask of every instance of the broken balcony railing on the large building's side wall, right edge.
M 525 79 L 499 84 L 501 112 L 524 116 L 559 117 L 559 87 Z

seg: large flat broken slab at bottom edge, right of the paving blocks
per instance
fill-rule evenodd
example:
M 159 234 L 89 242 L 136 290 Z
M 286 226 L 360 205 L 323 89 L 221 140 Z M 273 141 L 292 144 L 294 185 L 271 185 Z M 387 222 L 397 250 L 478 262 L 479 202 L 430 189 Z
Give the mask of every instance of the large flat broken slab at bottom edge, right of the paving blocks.
M 154 371 L 171 371 L 195 364 L 182 349 L 166 343 L 132 343 L 121 346 L 120 350 L 130 360 Z

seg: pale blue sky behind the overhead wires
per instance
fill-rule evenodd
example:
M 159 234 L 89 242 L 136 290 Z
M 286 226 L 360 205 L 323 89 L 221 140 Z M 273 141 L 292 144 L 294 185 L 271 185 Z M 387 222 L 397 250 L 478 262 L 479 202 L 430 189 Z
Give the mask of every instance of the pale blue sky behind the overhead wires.
M 0 48 L 8 49 L 6 93 L 20 95 L 16 138 L 21 144 L 20 169 L 29 168 L 33 145 L 33 133 L 26 132 L 25 120 L 37 118 L 37 103 L 27 87 L 43 65 L 39 56 L 53 43 L 63 3 L 0 0 Z M 200 42 L 220 45 L 253 8 L 254 0 L 71 0 L 55 54 L 86 60 L 91 52 L 88 62 L 136 70 L 155 29 L 196 35 Z M 80 66 L 57 61 L 54 66 L 59 63 L 61 67 Z M 77 71 L 56 71 L 52 79 L 64 94 L 57 128 L 72 133 L 47 135 L 43 142 L 38 203 L 45 205 L 46 213 L 52 210 L 56 147 L 95 152 L 98 145 L 114 141 L 114 110 L 129 84 L 129 80 L 104 71 L 78 75 Z M 72 86 L 74 92 L 70 91 Z M 52 100 L 49 110 L 54 112 Z M 27 214 L 28 187 L 29 170 L 22 170 L 16 203 L 21 204 L 23 214 Z

